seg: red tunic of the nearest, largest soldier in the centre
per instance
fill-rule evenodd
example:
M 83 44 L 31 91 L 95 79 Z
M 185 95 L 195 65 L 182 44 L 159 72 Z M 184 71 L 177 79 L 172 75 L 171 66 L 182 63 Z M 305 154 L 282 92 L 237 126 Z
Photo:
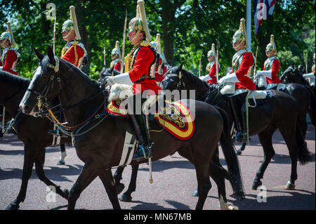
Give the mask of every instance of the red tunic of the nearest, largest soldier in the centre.
M 137 94 L 147 89 L 151 89 L 154 93 L 162 90 L 157 85 L 155 79 L 145 78 L 143 81 L 137 81 L 143 75 L 149 74 L 150 65 L 154 62 L 154 53 L 148 46 L 141 46 L 136 55 L 136 62 L 133 64 L 133 69 L 129 71 L 129 78 L 133 81 L 133 91 Z M 135 81 L 137 81 L 135 83 Z

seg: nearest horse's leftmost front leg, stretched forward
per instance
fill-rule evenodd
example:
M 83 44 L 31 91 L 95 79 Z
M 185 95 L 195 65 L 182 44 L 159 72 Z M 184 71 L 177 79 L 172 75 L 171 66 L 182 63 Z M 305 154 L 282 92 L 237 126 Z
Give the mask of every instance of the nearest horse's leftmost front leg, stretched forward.
M 74 210 L 81 192 L 100 174 L 92 159 L 87 159 L 68 197 L 68 210 Z

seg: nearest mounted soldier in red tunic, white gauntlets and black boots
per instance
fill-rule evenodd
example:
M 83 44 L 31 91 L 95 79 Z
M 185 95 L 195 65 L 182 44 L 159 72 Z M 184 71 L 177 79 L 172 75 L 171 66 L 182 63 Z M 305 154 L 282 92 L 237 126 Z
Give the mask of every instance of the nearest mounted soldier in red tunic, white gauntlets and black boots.
M 127 84 L 132 86 L 133 93 L 133 112 L 130 113 L 131 120 L 136 129 L 136 136 L 140 141 L 138 152 L 133 159 L 140 159 L 143 157 L 152 157 L 150 135 L 147 126 L 147 115 L 137 108 L 137 105 L 143 105 L 147 98 L 154 96 L 162 91 L 155 81 L 155 68 L 157 62 L 157 52 L 150 46 L 150 32 L 147 27 L 147 18 L 145 14 L 144 1 L 139 0 L 137 6 L 136 18 L 129 22 L 129 41 L 133 44 L 133 49 L 129 55 L 124 58 L 125 73 L 114 77 L 107 77 L 107 84 Z M 147 98 L 143 98 L 145 91 Z M 136 103 L 140 93 L 141 104 Z M 140 111 L 139 111 L 140 109 Z M 138 112 L 135 112 L 138 110 Z

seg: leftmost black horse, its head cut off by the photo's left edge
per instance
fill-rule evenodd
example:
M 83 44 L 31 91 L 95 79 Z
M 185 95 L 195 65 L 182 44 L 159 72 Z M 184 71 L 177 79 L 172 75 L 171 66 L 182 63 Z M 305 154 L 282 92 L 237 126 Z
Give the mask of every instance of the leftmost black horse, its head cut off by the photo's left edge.
M 53 136 L 47 131 L 53 129 L 53 124 L 46 118 L 37 118 L 23 114 L 19 103 L 22 100 L 29 79 L 18 77 L 8 72 L 0 71 L 0 103 L 6 107 L 6 116 L 15 119 L 13 128 L 18 138 L 24 143 L 24 164 L 22 171 L 22 185 L 18 197 L 9 204 L 6 209 L 18 209 L 20 202 L 24 202 L 27 191 L 27 183 L 32 175 L 35 163 L 35 171 L 39 180 L 46 185 L 53 185 L 58 195 L 68 198 L 68 190 L 61 190 L 59 186 L 48 180 L 44 173 L 45 148 L 53 143 Z M 70 143 L 70 138 L 61 138 L 61 144 Z

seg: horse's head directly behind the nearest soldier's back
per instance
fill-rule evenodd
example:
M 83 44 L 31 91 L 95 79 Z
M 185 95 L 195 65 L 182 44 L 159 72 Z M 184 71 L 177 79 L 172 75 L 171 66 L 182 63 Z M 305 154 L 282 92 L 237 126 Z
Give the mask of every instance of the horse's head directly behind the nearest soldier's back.
M 179 66 L 170 67 L 169 70 L 166 71 L 166 78 L 164 81 L 162 81 L 162 86 L 164 89 L 169 89 L 170 91 L 173 91 L 175 89 L 179 89 L 179 81 L 181 79 L 181 73 L 183 62 Z

